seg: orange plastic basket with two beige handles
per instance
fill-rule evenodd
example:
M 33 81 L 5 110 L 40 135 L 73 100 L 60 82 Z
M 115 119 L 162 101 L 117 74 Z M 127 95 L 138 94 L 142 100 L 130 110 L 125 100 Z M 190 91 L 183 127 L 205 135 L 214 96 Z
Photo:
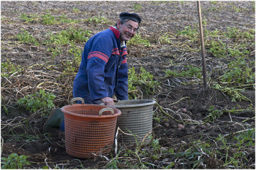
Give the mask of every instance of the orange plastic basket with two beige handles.
M 82 104 L 72 104 L 82 100 Z M 68 155 L 91 158 L 111 151 L 119 109 L 105 105 L 84 104 L 83 98 L 73 98 L 61 107 L 65 118 L 65 148 Z

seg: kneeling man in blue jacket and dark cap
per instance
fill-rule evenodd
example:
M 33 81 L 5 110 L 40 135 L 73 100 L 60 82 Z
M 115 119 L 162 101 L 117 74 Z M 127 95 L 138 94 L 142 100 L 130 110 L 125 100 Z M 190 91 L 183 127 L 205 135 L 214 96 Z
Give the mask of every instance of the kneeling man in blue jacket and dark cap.
M 128 66 L 125 43 L 136 35 L 141 18 L 136 13 L 122 12 L 115 27 L 92 36 L 84 45 L 81 64 L 74 79 L 73 97 L 86 104 L 114 105 L 115 99 L 128 99 Z M 44 132 L 51 127 L 64 131 L 60 109 L 51 112 Z

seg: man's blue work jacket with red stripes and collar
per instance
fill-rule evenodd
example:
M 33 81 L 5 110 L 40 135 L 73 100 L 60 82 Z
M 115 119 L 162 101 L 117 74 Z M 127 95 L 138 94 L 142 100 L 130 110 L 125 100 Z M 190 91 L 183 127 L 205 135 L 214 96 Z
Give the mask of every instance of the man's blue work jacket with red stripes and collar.
M 128 99 L 127 49 L 120 47 L 120 32 L 109 27 L 92 36 L 84 45 L 81 64 L 74 79 L 73 97 L 86 104 L 116 95 Z

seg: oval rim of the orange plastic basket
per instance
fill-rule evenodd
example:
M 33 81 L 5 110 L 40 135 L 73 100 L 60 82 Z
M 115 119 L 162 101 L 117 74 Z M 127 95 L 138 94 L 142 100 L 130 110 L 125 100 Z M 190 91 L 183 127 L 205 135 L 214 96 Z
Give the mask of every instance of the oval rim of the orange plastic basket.
M 101 118 L 114 118 L 114 117 L 117 117 L 117 116 L 120 116 L 121 115 L 121 111 L 115 107 L 110 107 L 110 106 L 107 106 L 107 105 L 100 105 L 100 107 L 103 108 L 106 108 L 106 107 L 110 107 L 112 109 L 114 109 L 114 112 L 117 111 L 116 113 L 114 114 L 108 114 L 108 115 L 84 115 L 84 114 L 77 114 L 77 113 L 74 113 L 74 112 L 68 112 L 66 111 L 65 109 L 67 107 L 70 107 L 70 106 L 98 106 L 97 104 L 72 104 L 72 105 L 64 105 L 63 107 L 61 107 L 61 111 L 64 113 L 64 114 L 69 114 L 71 116 L 76 116 L 76 117 L 80 117 L 80 118 L 97 118 L 97 119 L 101 119 Z

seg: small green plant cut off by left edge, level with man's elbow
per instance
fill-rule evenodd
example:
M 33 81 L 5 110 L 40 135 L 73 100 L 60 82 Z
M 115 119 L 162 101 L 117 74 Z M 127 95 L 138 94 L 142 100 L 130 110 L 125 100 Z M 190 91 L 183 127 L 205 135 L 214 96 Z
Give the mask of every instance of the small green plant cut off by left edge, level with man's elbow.
M 21 72 L 22 66 L 14 65 L 9 59 L 6 62 L 1 63 L 1 77 L 9 77 L 13 73 Z

